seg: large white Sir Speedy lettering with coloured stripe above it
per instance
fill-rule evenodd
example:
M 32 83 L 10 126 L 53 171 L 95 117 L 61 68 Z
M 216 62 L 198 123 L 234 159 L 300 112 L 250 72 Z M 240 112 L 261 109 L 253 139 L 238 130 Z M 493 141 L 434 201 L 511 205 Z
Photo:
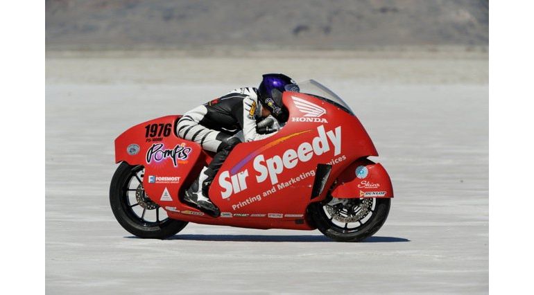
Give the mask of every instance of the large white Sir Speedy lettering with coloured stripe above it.
M 264 147 L 260 147 L 255 152 L 249 154 L 230 171 L 221 172 L 218 177 L 218 184 L 223 188 L 221 190 L 221 197 L 227 199 L 233 193 L 239 193 L 248 188 L 248 169 L 239 173 L 237 172 L 251 159 L 253 159 L 253 166 L 257 172 L 255 174 L 257 184 L 261 184 L 266 179 L 269 179 L 270 183 L 274 186 L 279 182 L 278 175 L 284 172 L 284 169 L 293 169 L 298 166 L 298 163 L 310 161 L 313 156 L 325 154 L 332 148 L 334 149 L 334 156 L 341 154 L 341 126 L 336 127 L 334 130 L 325 131 L 324 125 L 317 127 L 318 136 L 312 138 L 311 142 L 301 143 L 296 150 L 287 149 L 281 156 L 275 155 L 267 159 L 261 154 L 266 149 L 286 141 L 288 138 L 310 131 L 307 130 L 278 138 L 276 141 L 268 143 Z

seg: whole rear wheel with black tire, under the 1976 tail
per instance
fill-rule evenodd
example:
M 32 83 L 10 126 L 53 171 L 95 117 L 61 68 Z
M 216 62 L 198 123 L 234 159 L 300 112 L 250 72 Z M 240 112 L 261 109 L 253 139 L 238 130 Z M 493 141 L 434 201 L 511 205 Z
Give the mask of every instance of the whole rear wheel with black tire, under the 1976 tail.
M 169 238 L 184 229 L 187 222 L 172 220 L 146 195 L 143 177 L 143 166 L 126 162 L 119 165 L 110 186 L 113 214 L 126 231 L 139 238 Z

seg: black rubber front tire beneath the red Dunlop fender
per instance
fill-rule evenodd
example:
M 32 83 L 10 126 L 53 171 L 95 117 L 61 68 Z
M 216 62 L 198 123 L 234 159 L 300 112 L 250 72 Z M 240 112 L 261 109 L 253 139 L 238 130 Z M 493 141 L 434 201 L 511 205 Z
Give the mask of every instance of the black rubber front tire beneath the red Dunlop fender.
M 349 199 L 349 202 L 362 202 L 363 199 Z M 377 233 L 381 226 L 386 222 L 388 217 L 391 199 L 373 198 L 372 208 L 370 208 L 368 215 L 365 215 L 359 222 L 359 226 L 355 228 L 348 228 L 338 225 L 333 222 L 334 218 L 327 215 L 327 206 L 324 202 L 313 203 L 309 206 L 308 211 L 311 219 L 315 222 L 317 229 L 326 235 L 328 238 L 336 242 L 360 242 Z M 338 218 L 344 216 L 338 216 Z M 355 222 L 354 222 L 355 223 Z

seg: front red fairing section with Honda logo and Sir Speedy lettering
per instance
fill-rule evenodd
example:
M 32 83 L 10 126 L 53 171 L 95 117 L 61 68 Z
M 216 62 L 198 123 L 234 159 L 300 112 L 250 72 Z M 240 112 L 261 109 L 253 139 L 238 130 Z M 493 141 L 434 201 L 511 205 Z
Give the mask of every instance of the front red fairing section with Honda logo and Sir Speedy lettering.
M 329 188 L 353 161 L 377 155 L 359 120 L 347 111 L 304 93 L 284 92 L 283 100 L 286 125 L 274 136 L 237 145 L 216 175 L 209 197 L 221 213 L 302 218 L 328 191 L 311 199 L 318 164 L 332 166 Z M 320 116 L 307 116 L 302 100 Z

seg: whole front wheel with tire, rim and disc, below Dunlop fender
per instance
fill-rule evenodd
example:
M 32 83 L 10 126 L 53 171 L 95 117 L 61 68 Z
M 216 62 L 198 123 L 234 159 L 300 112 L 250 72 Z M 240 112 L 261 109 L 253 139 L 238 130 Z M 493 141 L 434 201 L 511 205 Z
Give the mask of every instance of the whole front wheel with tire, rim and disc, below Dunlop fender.
M 337 242 L 360 242 L 377 233 L 388 217 L 391 199 L 337 199 L 313 203 L 309 214 L 317 229 Z

